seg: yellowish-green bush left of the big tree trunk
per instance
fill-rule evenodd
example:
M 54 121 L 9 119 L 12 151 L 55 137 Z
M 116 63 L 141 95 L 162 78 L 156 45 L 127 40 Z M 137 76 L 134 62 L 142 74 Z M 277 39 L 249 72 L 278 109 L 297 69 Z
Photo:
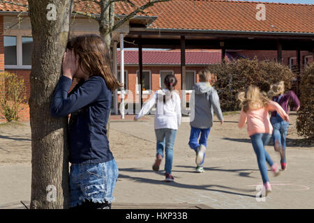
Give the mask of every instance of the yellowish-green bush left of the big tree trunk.
M 0 114 L 6 121 L 18 120 L 19 108 L 24 100 L 26 100 L 24 79 L 9 72 L 0 73 Z

